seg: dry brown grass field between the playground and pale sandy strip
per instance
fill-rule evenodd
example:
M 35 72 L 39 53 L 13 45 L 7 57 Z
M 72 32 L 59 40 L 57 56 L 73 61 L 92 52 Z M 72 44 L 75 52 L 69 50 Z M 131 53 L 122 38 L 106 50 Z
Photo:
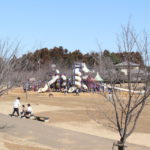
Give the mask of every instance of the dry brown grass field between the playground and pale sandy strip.
M 75 94 L 64 95 L 63 93 L 53 93 L 54 97 L 48 96 L 49 93 L 28 92 L 28 99 L 21 88 L 9 91 L 8 95 L 0 97 L 0 102 L 12 102 L 17 96 L 21 97 L 22 104 L 31 103 L 36 108 L 37 115 L 48 116 L 52 123 L 58 122 L 87 122 L 96 118 L 101 124 L 107 120 L 101 113 L 107 112 L 112 114 L 113 109 L 110 103 L 100 94 L 81 93 L 80 96 Z M 122 97 L 126 97 L 126 92 L 120 92 Z M 41 108 L 41 105 L 47 105 L 48 109 Z M 56 109 L 55 109 L 56 107 Z M 51 108 L 54 108 L 51 110 Z M 2 110 L 1 110 L 2 111 Z M 11 110 L 8 110 L 8 113 Z M 150 105 L 147 105 L 140 117 L 136 132 L 150 133 Z

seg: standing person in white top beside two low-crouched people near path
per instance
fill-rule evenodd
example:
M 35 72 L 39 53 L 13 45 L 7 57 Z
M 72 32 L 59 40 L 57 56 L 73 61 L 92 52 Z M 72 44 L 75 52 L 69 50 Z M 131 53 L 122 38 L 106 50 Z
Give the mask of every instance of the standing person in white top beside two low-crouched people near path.
M 17 114 L 17 116 L 19 117 L 30 117 L 31 115 L 33 115 L 33 111 L 32 111 L 32 107 L 30 104 L 27 104 L 27 108 L 25 107 L 25 105 L 22 105 L 22 110 L 19 113 L 19 107 L 21 106 L 20 103 L 20 97 L 17 97 L 16 100 L 13 103 L 13 112 L 11 114 L 11 116 L 14 116 L 15 113 Z

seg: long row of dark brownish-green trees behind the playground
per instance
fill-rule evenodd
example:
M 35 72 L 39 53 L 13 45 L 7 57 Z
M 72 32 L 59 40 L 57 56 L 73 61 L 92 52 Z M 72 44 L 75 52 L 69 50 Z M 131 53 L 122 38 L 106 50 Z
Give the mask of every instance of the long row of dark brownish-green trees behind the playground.
M 24 71 L 36 71 L 41 68 L 48 68 L 50 64 L 56 64 L 60 68 L 71 69 L 75 62 L 85 62 L 88 67 L 96 67 L 99 65 L 99 58 L 110 58 L 113 64 L 126 61 L 128 53 L 114 53 L 109 50 L 104 50 L 101 53 L 91 52 L 83 54 L 80 50 L 69 52 L 63 47 L 54 47 L 52 49 L 42 48 L 35 52 L 24 54 L 20 58 L 14 57 L 12 61 L 15 61 L 15 70 Z M 132 52 L 132 62 L 143 65 L 143 59 L 139 52 Z

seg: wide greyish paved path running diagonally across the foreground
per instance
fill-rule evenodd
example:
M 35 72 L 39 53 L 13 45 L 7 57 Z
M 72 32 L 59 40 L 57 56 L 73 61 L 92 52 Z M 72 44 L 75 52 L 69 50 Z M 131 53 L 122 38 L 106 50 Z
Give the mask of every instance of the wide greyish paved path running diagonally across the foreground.
M 7 124 L 5 133 L 28 139 L 41 145 L 48 146 L 56 150 L 111 150 L 112 140 L 74 132 L 48 126 L 46 123 L 35 120 L 14 118 L 0 114 L 0 122 Z M 142 147 L 130 144 L 128 150 L 149 150 L 148 147 Z

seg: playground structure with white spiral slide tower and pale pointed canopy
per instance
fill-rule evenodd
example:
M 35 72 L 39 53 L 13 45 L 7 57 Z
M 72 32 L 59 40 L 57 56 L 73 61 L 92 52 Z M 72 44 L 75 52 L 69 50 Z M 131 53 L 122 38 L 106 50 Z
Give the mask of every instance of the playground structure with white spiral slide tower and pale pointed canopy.
M 30 89 L 34 89 L 34 91 L 37 91 L 38 93 L 47 92 L 50 89 L 68 93 L 75 92 L 76 89 L 84 92 L 92 88 L 97 88 L 97 90 L 99 90 L 100 82 L 103 80 L 98 73 L 94 79 L 94 77 L 91 76 L 93 74 L 95 73 L 90 71 L 85 63 L 76 63 L 73 67 L 72 74 L 69 76 L 60 73 L 56 68 L 56 65 L 53 64 L 51 66 L 50 80 L 46 83 L 43 81 L 40 81 L 40 83 L 34 81 L 33 83 L 36 83 L 36 88 Z M 30 85 L 30 83 L 27 84 L 28 86 Z M 31 84 L 31 87 L 34 86 Z

